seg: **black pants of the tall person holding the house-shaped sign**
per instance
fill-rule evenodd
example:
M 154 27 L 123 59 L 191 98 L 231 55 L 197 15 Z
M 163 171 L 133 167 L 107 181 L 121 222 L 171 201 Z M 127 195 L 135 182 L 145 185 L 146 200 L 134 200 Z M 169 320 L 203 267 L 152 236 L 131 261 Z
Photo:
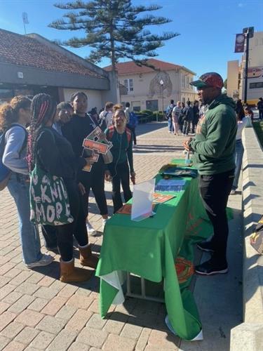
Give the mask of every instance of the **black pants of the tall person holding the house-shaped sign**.
M 107 201 L 104 192 L 105 165 L 102 162 L 93 164 L 91 172 L 81 172 L 80 181 L 84 185 L 86 193 L 82 197 L 82 204 L 86 217 L 88 216 L 88 197 L 90 189 L 93 190 L 97 207 L 101 215 L 108 214 Z

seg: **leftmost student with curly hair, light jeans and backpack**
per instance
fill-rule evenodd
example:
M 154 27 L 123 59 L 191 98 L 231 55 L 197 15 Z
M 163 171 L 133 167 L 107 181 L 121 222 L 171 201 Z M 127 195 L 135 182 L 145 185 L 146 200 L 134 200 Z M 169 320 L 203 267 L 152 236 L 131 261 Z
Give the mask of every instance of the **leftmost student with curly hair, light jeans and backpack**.
M 30 121 L 31 100 L 25 96 L 15 96 L 11 102 L 0 107 L 0 130 L 4 133 L 3 164 L 9 168 L 11 177 L 8 190 L 15 201 L 20 223 L 22 257 L 28 268 L 49 265 L 50 255 L 40 251 L 39 231 L 30 222 L 29 176 L 27 168 L 27 131 Z

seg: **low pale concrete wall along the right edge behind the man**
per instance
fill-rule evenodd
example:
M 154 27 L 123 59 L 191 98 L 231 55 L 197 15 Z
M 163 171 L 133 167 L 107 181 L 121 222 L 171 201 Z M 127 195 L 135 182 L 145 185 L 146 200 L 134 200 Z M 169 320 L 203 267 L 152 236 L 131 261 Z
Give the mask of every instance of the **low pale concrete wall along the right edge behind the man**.
M 263 215 L 263 150 L 253 128 L 243 133 L 243 323 L 231 330 L 231 351 L 263 350 L 263 256 L 249 236 Z

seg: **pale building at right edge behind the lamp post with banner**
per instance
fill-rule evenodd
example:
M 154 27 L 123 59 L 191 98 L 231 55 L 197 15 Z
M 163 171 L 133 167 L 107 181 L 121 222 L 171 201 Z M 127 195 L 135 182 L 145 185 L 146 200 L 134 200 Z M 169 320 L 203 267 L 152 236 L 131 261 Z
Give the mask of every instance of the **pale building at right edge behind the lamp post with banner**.
M 241 62 L 227 62 L 227 95 L 244 100 L 245 53 Z M 255 105 L 263 97 L 263 32 L 255 32 L 249 41 L 247 101 Z

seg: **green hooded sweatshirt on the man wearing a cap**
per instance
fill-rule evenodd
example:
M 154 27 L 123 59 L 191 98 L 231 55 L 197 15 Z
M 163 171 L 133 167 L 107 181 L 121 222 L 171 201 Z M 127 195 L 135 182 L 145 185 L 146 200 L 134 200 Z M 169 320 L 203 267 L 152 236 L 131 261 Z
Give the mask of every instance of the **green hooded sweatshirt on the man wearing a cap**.
M 210 103 L 198 121 L 196 136 L 189 144 L 194 150 L 194 166 L 201 175 L 212 175 L 235 168 L 235 102 L 221 94 Z

